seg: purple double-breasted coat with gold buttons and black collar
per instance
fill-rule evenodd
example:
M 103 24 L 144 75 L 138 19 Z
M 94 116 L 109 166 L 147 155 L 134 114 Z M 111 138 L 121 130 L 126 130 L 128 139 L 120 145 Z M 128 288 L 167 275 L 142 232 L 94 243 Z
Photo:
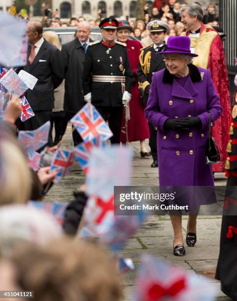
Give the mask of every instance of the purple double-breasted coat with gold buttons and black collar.
M 167 69 L 153 74 L 146 118 L 157 127 L 160 186 L 212 186 L 211 165 L 205 163 L 208 139 L 208 112 L 211 121 L 221 115 L 219 97 L 207 69 L 189 65 L 184 87 Z M 165 120 L 199 117 L 200 128 L 189 131 L 165 130 Z

